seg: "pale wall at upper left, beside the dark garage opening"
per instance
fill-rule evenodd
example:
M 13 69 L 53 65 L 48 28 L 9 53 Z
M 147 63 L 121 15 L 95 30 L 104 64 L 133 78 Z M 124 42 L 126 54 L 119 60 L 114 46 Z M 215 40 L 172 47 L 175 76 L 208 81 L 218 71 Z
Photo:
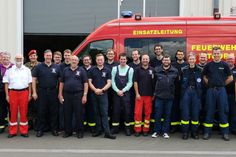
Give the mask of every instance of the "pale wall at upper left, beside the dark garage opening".
M 0 51 L 23 53 L 23 0 L 0 0 Z

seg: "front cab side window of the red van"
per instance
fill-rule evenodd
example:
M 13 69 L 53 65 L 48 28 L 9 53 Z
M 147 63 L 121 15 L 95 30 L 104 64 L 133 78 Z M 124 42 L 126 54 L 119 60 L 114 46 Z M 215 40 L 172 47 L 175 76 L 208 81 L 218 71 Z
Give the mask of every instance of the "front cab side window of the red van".
M 78 54 L 78 57 L 82 58 L 84 55 L 90 55 L 93 63 L 95 63 L 96 55 L 99 53 L 105 55 L 107 49 L 113 48 L 113 45 L 113 40 L 98 40 L 91 42 Z

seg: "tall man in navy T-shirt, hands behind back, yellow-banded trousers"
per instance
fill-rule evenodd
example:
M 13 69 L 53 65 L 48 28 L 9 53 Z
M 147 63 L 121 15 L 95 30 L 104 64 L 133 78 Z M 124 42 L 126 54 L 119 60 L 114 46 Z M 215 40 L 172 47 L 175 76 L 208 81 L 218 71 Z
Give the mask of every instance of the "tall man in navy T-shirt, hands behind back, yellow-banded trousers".
M 229 141 L 229 106 L 225 86 L 233 80 L 233 76 L 228 64 L 221 61 L 220 47 L 213 48 L 212 56 L 213 61 L 207 63 L 203 70 L 203 79 L 208 87 L 203 139 L 208 140 L 211 137 L 214 114 L 218 108 L 221 135 L 225 141 Z

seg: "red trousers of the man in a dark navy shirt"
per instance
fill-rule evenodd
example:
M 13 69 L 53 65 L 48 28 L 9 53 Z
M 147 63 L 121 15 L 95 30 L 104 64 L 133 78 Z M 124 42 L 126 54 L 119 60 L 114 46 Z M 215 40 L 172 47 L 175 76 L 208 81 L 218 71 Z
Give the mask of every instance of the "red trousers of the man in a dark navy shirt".
M 144 108 L 144 125 L 143 132 L 148 132 L 150 127 L 150 115 L 152 113 L 152 97 L 141 96 L 140 100 L 135 99 L 135 110 L 134 110 L 134 131 L 140 133 L 142 131 L 142 116 Z

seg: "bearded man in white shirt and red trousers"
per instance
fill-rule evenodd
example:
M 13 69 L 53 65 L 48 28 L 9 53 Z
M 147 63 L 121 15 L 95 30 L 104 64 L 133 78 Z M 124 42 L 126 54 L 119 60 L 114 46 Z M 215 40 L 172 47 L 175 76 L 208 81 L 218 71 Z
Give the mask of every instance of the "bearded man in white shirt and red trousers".
M 32 76 L 29 68 L 23 65 L 23 56 L 17 54 L 15 65 L 6 71 L 3 77 L 5 84 L 6 100 L 10 104 L 9 135 L 12 138 L 17 135 L 17 115 L 20 110 L 20 133 L 22 137 L 28 137 L 27 110 L 31 95 Z

